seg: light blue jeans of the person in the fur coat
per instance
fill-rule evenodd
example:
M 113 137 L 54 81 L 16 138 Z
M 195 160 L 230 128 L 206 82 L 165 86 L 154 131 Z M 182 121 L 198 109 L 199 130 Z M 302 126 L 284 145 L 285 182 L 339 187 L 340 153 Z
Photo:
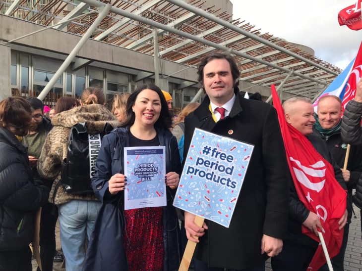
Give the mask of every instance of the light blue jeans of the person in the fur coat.
M 82 270 L 85 238 L 89 242 L 101 207 L 99 201 L 71 200 L 59 206 L 60 243 L 66 271 Z

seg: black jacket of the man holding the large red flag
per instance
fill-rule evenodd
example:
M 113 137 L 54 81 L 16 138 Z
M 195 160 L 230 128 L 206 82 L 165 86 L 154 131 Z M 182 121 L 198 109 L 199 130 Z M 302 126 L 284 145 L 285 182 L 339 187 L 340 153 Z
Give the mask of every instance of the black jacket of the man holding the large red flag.
M 333 160 L 332 155 L 323 139 L 316 135 L 308 135 L 308 140 L 314 148 L 319 152 L 324 159 L 326 159 L 334 169 L 334 175 L 338 183 L 343 189 L 347 190 L 345 181 L 342 176 L 341 168 Z M 302 245 L 310 245 L 315 247 L 317 244 L 312 238 L 302 233 L 302 223 L 309 215 L 309 210 L 299 200 L 294 182 L 291 181 L 290 185 L 290 198 L 289 198 L 289 223 L 288 223 L 288 235 L 285 239 Z

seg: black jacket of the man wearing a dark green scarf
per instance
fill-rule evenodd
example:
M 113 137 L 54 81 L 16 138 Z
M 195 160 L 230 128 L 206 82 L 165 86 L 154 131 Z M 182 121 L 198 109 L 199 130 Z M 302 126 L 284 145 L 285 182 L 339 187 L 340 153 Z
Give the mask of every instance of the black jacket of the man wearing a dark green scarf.
M 319 136 L 327 143 L 328 149 L 330 150 L 334 161 L 340 168 L 343 168 L 346 158 L 347 144 L 342 141 L 341 132 L 338 131 L 326 138 L 313 127 L 313 135 Z M 360 147 L 351 146 L 347 170 L 349 170 L 351 174 L 350 181 L 345 182 L 348 189 L 348 223 L 351 223 L 353 213 L 352 190 L 356 188 L 357 182 L 362 174 L 362 149 Z

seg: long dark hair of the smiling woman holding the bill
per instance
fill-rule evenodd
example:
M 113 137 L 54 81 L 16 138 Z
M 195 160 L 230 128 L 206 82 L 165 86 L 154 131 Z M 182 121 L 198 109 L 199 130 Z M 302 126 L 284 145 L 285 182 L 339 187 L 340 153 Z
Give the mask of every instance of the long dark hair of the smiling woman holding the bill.
M 135 120 L 135 115 L 134 115 L 134 112 L 132 111 L 132 106 L 134 105 L 138 94 L 142 90 L 156 91 L 158 96 L 160 97 L 160 100 L 161 100 L 161 112 L 160 112 L 160 117 L 158 118 L 158 120 L 155 123 L 155 127 L 162 128 L 162 129 L 171 128 L 172 127 L 172 115 L 171 115 L 171 113 L 169 111 L 169 108 L 167 106 L 165 96 L 162 94 L 161 89 L 159 87 L 157 87 L 156 85 L 154 85 L 154 84 L 141 85 L 136 90 L 134 90 L 134 92 L 129 96 L 129 98 L 127 100 L 127 106 L 126 106 L 127 117 L 124 120 L 124 122 L 122 123 L 122 126 L 133 125 L 134 120 Z

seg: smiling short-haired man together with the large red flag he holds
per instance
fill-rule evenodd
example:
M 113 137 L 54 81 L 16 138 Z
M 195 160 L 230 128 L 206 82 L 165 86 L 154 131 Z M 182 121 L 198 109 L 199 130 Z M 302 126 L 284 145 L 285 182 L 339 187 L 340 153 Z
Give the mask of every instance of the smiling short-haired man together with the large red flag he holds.
M 325 142 L 312 135 L 315 120 L 310 99 L 291 98 L 283 111 L 274 86 L 272 93 L 293 177 L 288 235 L 282 252 L 272 258 L 272 269 L 314 271 L 326 263 L 318 231 L 329 256 L 339 253 L 347 222 L 346 185 Z

